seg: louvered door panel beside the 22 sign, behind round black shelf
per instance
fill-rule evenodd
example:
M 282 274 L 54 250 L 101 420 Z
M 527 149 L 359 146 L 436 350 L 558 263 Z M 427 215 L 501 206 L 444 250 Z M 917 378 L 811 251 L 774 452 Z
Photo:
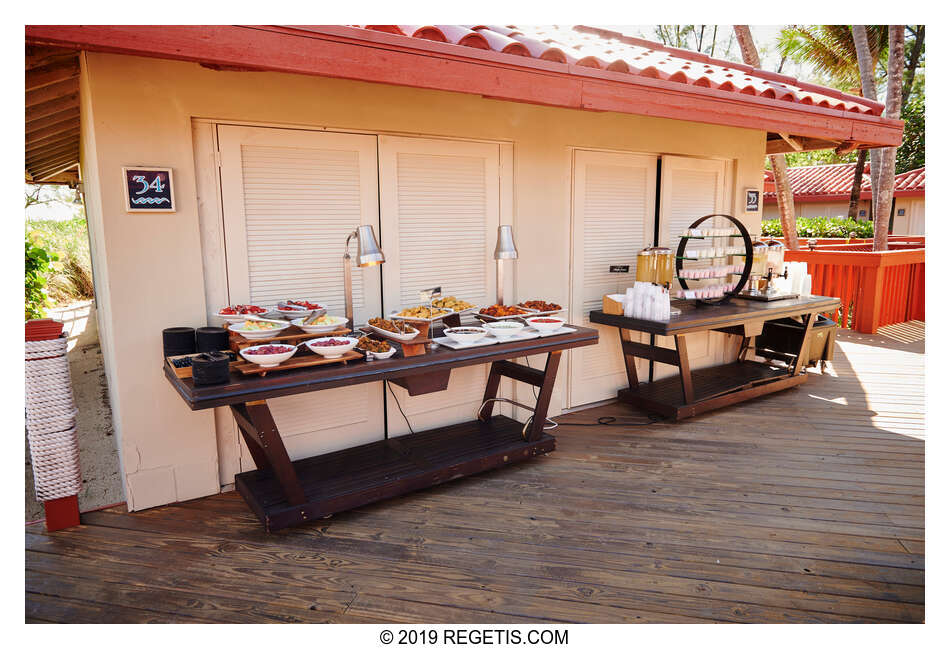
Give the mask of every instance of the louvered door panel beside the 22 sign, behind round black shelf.
M 676 249 L 680 236 L 691 223 L 708 214 L 726 213 L 729 204 L 729 166 L 724 160 L 700 160 L 663 156 L 663 177 L 660 180 L 660 242 Z M 731 227 L 725 219 L 707 221 L 709 227 Z M 664 237 L 666 237 L 664 239 Z M 694 241 L 690 248 L 706 242 Z M 706 332 L 686 337 L 690 366 L 693 369 L 721 363 L 728 337 Z M 671 336 L 658 336 L 656 343 L 674 348 Z M 671 376 L 675 367 L 656 363 L 654 379 Z

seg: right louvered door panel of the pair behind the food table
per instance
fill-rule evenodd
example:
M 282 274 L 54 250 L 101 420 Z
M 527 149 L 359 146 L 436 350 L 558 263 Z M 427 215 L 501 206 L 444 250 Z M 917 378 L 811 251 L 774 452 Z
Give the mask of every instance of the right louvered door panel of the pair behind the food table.
M 500 223 L 499 145 L 380 136 L 380 220 L 386 313 L 442 287 L 473 304 L 494 301 L 492 252 Z M 487 365 L 452 370 L 447 390 L 410 397 L 393 386 L 414 430 L 472 419 Z M 387 394 L 390 435 L 409 432 Z

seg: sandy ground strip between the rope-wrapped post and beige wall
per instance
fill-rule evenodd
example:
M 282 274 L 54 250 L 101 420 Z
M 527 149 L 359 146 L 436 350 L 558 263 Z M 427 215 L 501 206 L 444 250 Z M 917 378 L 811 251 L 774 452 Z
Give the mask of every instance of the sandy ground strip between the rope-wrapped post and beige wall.
M 63 329 L 69 336 L 69 371 L 72 375 L 73 396 L 79 409 L 76 428 L 83 482 L 79 493 L 79 509 L 88 511 L 122 502 L 125 494 L 119 475 L 119 457 L 112 429 L 112 408 L 102 364 L 102 350 L 99 348 L 95 301 L 86 300 L 50 309 L 48 317 L 62 320 Z M 26 520 L 37 520 L 43 515 L 43 503 L 36 500 L 33 489 L 33 466 L 27 446 Z

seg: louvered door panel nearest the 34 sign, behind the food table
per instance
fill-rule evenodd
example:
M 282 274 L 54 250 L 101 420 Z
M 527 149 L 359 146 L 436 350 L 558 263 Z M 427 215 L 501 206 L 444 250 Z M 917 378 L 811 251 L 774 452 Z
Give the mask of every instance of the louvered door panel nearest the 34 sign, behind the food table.
M 361 224 L 379 225 L 376 137 L 219 126 L 218 147 L 231 303 L 306 299 L 343 315 L 347 233 Z M 378 267 L 353 269 L 353 294 L 358 321 L 378 312 Z M 291 459 L 383 433 L 380 383 L 281 397 L 268 405 Z M 252 466 L 247 450 L 242 453 L 242 467 Z

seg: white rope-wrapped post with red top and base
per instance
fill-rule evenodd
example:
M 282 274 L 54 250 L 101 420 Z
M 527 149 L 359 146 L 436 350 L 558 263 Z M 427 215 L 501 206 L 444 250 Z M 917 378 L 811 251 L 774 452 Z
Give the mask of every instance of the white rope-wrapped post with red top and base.
M 26 432 L 36 497 L 46 510 L 46 529 L 55 531 L 79 525 L 77 411 L 62 324 L 38 336 L 33 322 L 26 327 Z

